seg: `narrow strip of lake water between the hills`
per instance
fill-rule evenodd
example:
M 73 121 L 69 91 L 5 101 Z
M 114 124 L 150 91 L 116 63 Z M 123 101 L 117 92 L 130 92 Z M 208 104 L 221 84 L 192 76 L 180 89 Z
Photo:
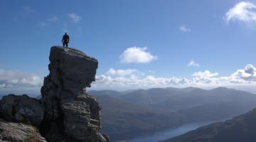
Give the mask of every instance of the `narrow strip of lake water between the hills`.
M 218 121 L 225 121 L 226 119 L 221 119 Z M 173 138 L 175 136 L 179 136 L 183 133 L 186 133 L 188 131 L 197 129 L 198 127 L 205 126 L 208 124 L 212 124 L 217 121 L 201 121 L 201 122 L 196 122 L 196 123 L 191 123 L 191 124 L 185 124 L 182 126 L 178 126 L 176 128 L 172 129 L 167 129 L 165 131 L 157 132 L 154 134 L 151 134 L 150 136 L 142 136 L 142 137 L 137 137 L 130 139 L 125 142 L 157 142 L 157 141 L 162 141 L 166 140 L 168 138 Z M 122 141 L 124 142 L 124 141 Z

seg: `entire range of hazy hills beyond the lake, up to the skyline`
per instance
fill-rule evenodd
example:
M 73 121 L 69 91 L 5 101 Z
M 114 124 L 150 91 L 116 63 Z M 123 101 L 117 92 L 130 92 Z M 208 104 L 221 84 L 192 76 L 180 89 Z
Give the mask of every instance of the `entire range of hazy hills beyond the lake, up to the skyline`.
M 256 108 L 256 94 L 219 87 L 90 91 L 102 106 L 102 129 L 112 141 L 195 121 L 218 120 Z

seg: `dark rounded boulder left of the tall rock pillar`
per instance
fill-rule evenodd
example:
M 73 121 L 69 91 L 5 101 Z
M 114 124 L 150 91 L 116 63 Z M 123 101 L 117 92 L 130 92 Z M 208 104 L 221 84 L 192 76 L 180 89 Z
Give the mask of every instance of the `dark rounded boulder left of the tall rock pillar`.
M 0 101 L 0 114 L 6 120 L 26 122 L 39 126 L 43 120 L 44 107 L 37 99 L 27 95 L 9 94 Z

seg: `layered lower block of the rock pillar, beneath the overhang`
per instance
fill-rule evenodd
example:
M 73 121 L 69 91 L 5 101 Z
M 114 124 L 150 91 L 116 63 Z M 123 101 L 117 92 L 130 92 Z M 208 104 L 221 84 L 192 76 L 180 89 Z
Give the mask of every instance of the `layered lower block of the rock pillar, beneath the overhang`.
M 78 98 L 62 104 L 65 133 L 79 141 L 106 141 L 100 133 L 100 106 L 89 95 Z

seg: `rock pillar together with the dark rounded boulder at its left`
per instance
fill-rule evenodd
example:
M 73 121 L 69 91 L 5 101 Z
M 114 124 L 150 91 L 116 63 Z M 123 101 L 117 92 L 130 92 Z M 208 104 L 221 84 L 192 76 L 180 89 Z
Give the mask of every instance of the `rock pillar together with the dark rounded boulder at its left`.
M 100 105 L 85 92 L 95 81 L 97 60 L 60 46 L 50 49 L 49 59 L 42 99 L 10 94 L 0 102 L 1 118 L 38 126 L 47 141 L 109 141 L 101 131 Z

